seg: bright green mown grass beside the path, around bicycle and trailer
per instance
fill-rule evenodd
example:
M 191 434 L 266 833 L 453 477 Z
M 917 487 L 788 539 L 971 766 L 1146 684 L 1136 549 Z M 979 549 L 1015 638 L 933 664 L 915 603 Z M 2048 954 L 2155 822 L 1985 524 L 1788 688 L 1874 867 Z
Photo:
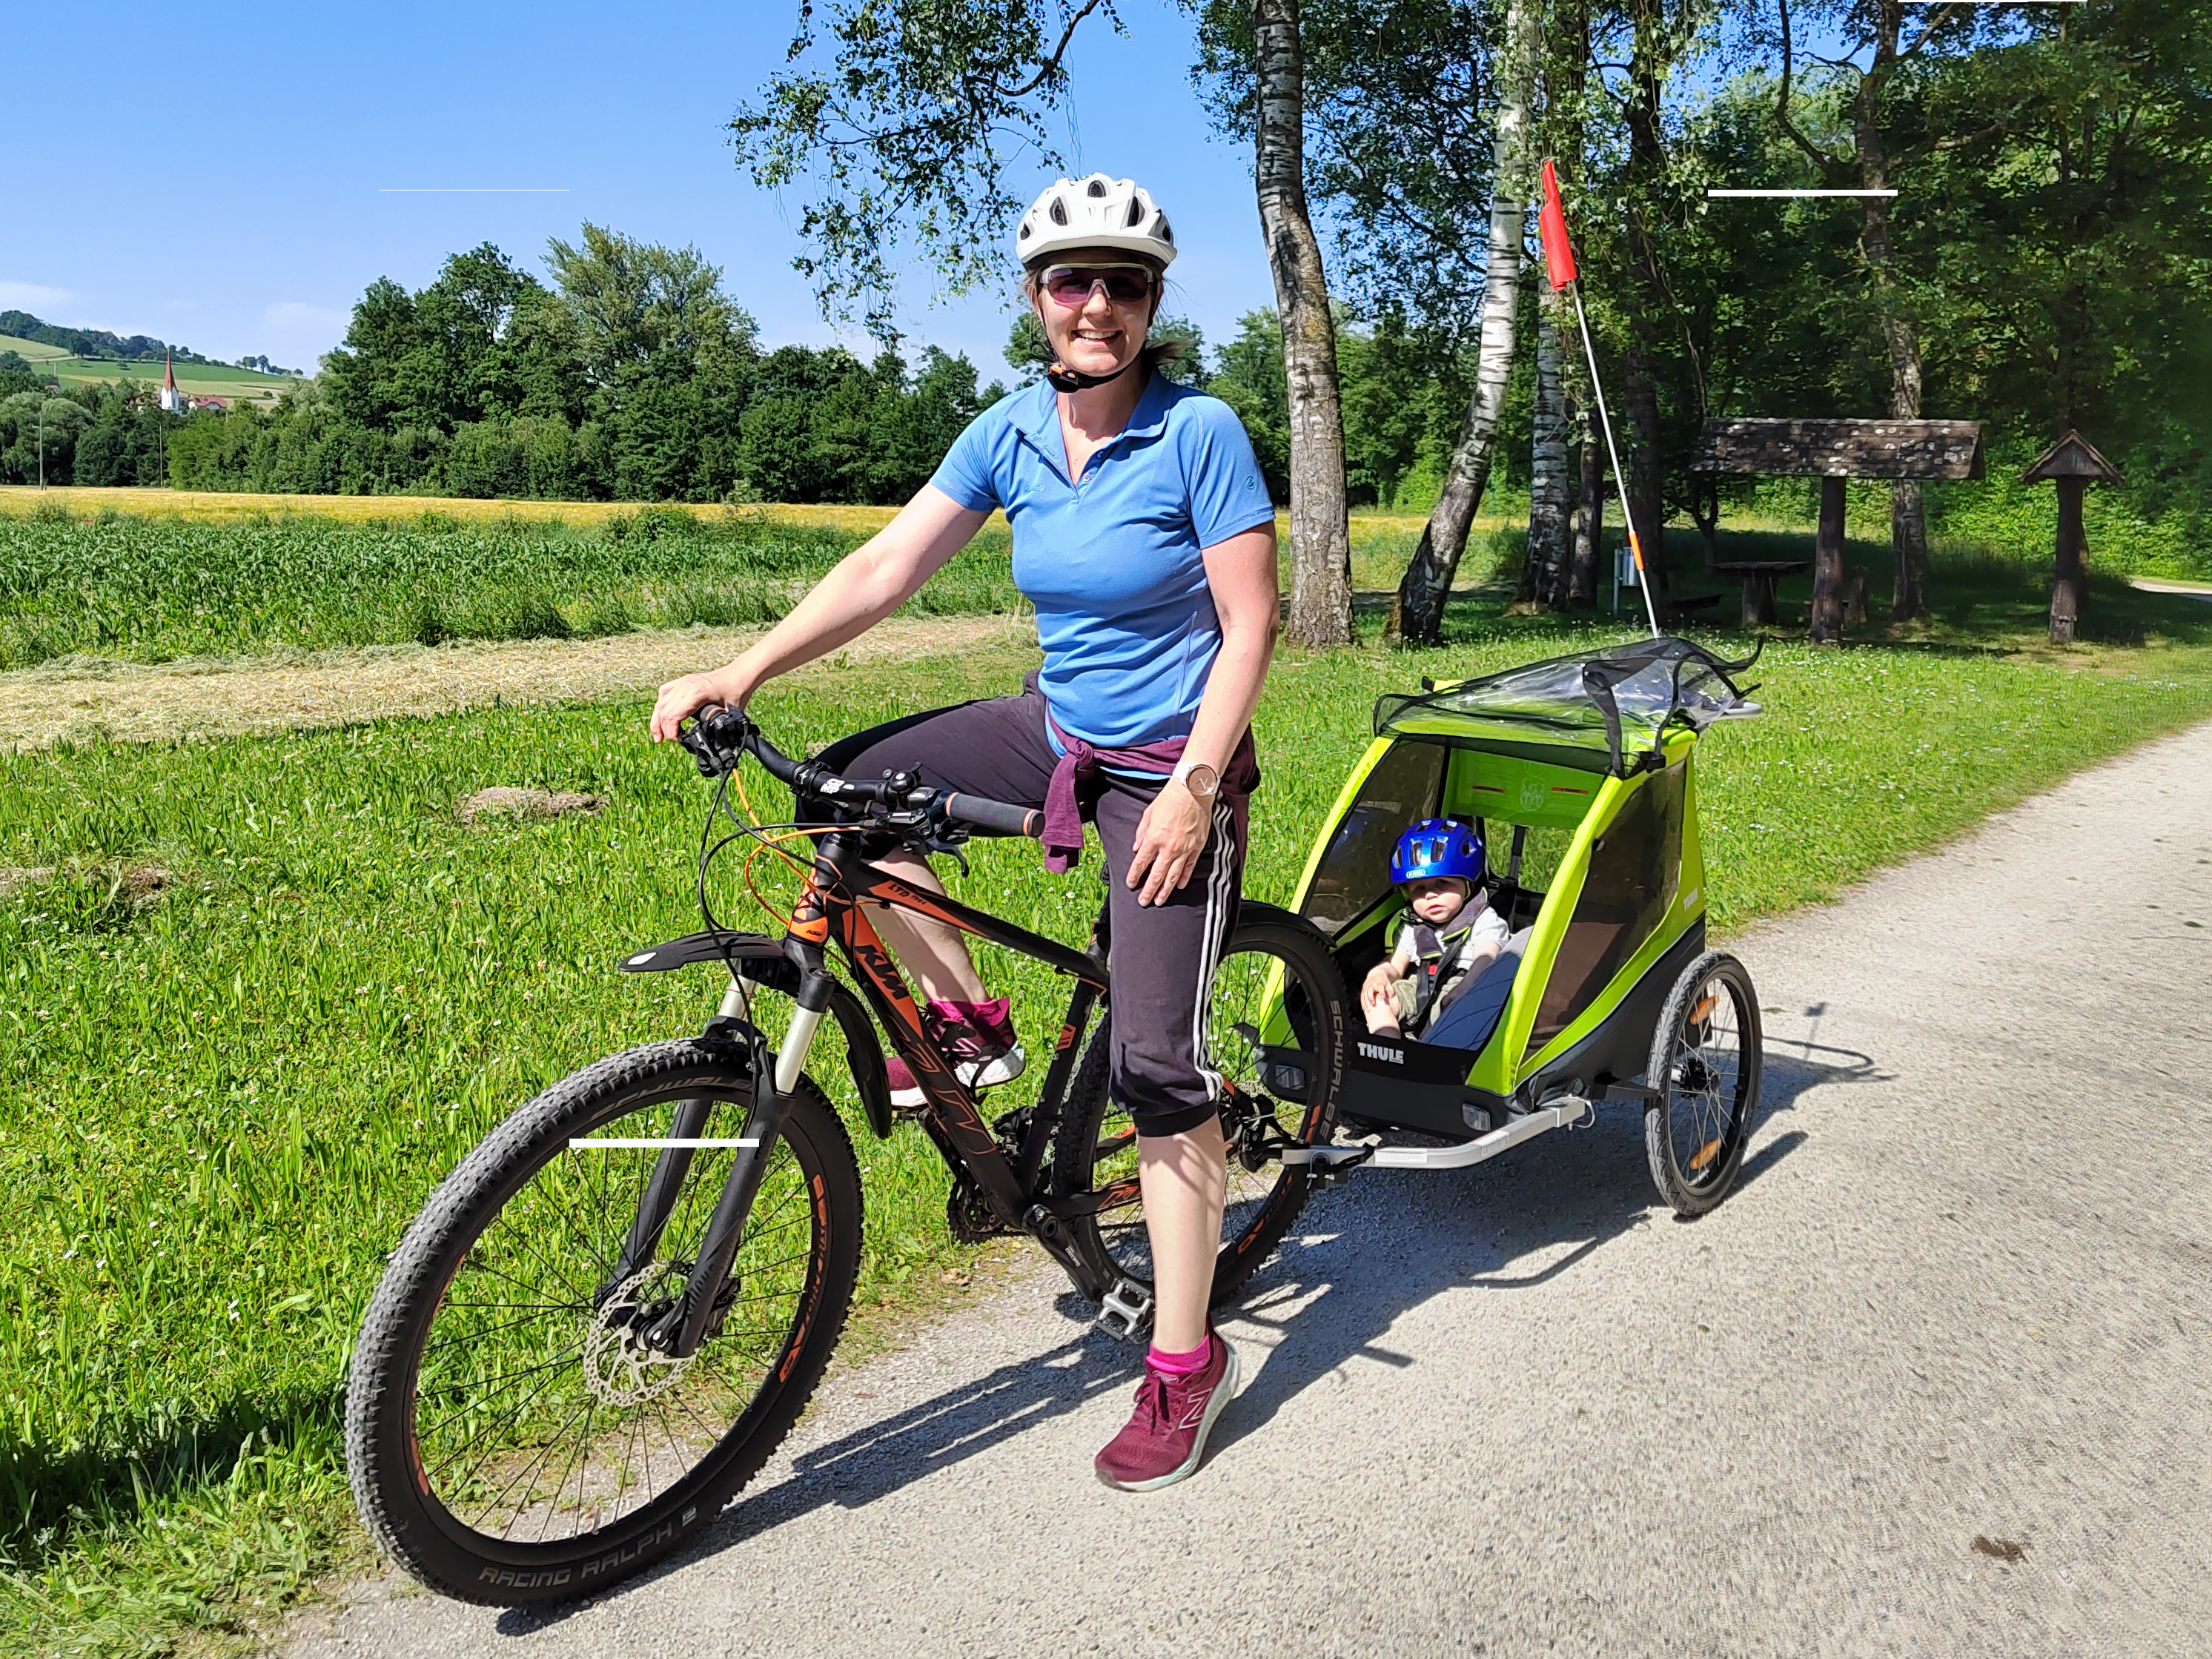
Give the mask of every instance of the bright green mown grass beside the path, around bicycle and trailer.
M 1285 655 L 1248 891 L 1287 896 L 1378 690 L 1604 637 L 1513 624 L 1442 653 Z M 1006 690 L 1022 661 L 830 670 L 759 712 L 785 745 L 821 743 Z M 1756 677 L 1770 717 L 1701 761 L 1723 931 L 2212 717 L 2208 646 L 1792 644 Z M 697 925 L 701 783 L 641 723 L 624 701 L 0 757 L 0 865 L 60 872 L 0 896 L 0 1646 L 221 1641 L 358 1548 L 336 1409 L 383 1252 L 520 1099 L 712 1002 L 708 973 L 613 973 Z M 493 783 L 608 805 L 462 827 L 453 803 Z M 1031 849 L 989 843 L 956 891 L 1075 938 L 1097 869 L 1046 878 Z M 1033 1042 L 1057 1022 L 1048 975 L 987 973 Z M 969 1252 L 922 1137 L 867 1137 L 838 1066 L 816 1053 L 867 1170 L 865 1332 Z

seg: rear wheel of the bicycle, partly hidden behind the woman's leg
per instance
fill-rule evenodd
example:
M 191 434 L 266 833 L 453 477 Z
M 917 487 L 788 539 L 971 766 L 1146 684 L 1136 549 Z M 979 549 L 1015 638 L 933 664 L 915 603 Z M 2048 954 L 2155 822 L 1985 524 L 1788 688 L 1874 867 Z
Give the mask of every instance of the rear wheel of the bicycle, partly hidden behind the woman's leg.
M 1281 962 L 1285 982 L 1294 987 L 1285 1006 L 1296 1029 L 1301 1051 L 1310 1057 L 1305 1099 L 1263 1084 L 1263 1068 L 1276 1060 L 1241 1040 L 1239 1013 L 1252 1009 L 1223 1006 L 1223 995 L 1237 1000 L 1243 991 L 1265 995 L 1248 967 L 1254 958 Z M 1245 964 L 1245 967 L 1241 967 Z M 1237 984 L 1243 980 L 1243 984 Z M 1298 1006 L 1303 1002 L 1303 1006 Z M 1221 1254 L 1214 1256 L 1212 1305 L 1230 1303 L 1267 1261 L 1305 1208 L 1307 1181 L 1301 1170 L 1281 1164 L 1250 1166 L 1239 1159 L 1239 1144 L 1254 1144 L 1259 1117 L 1272 1117 L 1283 1135 L 1298 1141 L 1327 1141 L 1336 1133 L 1336 1104 L 1345 1079 L 1345 993 L 1343 975 L 1329 956 L 1327 940 L 1290 911 L 1272 905 L 1243 905 L 1237 927 L 1214 967 L 1208 998 L 1208 1057 L 1228 1088 L 1221 1099 L 1223 1130 L 1230 1135 L 1230 1197 L 1223 1217 Z M 1113 1104 L 1106 1088 L 1113 1011 L 1108 1009 L 1084 1048 L 1075 1082 L 1068 1086 L 1066 1115 L 1053 1135 L 1053 1188 L 1057 1192 L 1091 1192 L 1135 1175 L 1135 1128 Z M 1228 1042 L 1239 1037 L 1239 1042 Z M 1281 1073 L 1274 1082 L 1283 1082 Z M 1261 1170 L 1270 1179 L 1254 1181 Z M 1245 1188 L 1243 1194 L 1239 1188 Z M 1144 1237 L 1144 1201 L 1130 1199 L 1099 1214 L 1075 1217 L 1071 1241 L 1084 1263 L 1106 1283 L 1128 1279 L 1150 1292 L 1150 1245 Z

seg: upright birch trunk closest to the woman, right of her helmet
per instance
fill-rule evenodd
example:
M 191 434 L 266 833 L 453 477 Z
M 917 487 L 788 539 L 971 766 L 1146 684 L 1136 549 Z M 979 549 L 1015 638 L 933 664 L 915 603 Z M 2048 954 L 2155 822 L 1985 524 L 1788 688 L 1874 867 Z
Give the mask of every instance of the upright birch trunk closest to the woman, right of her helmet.
M 1305 66 L 1296 0 L 1254 0 L 1259 223 L 1283 319 L 1290 383 L 1290 626 L 1305 646 L 1352 644 L 1352 529 L 1336 323 L 1321 243 L 1305 210 Z

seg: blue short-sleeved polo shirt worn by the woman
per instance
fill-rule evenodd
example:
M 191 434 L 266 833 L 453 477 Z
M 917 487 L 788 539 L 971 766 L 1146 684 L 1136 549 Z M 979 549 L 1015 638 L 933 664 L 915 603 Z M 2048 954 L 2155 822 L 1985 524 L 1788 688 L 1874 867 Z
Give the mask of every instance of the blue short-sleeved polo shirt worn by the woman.
M 1190 734 L 1221 653 L 1199 555 L 1274 520 L 1221 398 L 1152 374 L 1071 480 L 1060 400 L 1040 380 L 975 416 L 929 482 L 971 511 L 1006 509 L 1013 584 L 1037 606 L 1037 684 L 1062 730 L 1099 748 Z

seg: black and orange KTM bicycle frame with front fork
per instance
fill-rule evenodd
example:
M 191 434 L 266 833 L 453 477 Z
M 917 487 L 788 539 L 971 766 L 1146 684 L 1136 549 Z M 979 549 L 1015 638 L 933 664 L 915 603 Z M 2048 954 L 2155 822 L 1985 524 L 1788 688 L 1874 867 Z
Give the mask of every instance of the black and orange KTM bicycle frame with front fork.
M 1128 1203 L 1137 1197 L 1137 1181 L 1121 1179 L 1093 1192 L 1046 1192 L 1044 1157 L 1053 1128 L 1066 1106 L 1068 1084 L 1075 1077 L 1075 1062 L 1082 1053 L 1084 1031 L 1091 1024 L 1099 998 L 1106 995 L 1106 911 L 1093 927 L 1093 949 L 1077 951 L 1057 940 L 1031 933 L 989 911 L 980 911 L 960 900 L 916 887 L 874 865 L 876 858 L 896 849 L 896 836 L 867 832 L 865 827 L 832 830 L 814 852 L 805 887 L 792 905 L 785 922 L 781 949 L 732 953 L 732 987 L 723 995 L 717 1024 L 743 1020 L 752 993 L 761 987 L 787 989 L 792 1022 L 776 1048 L 772 1068 L 754 1066 L 754 1099 L 745 1115 L 741 1144 L 723 1179 L 714 1214 L 708 1219 L 699 1241 L 699 1259 L 688 1274 L 679 1303 L 655 1321 L 648 1340 L 675 1356 L 692 1354 L 706 1340 L 714 1312 L 714 1294 L 730 1274 L 737 1245 L 745 1232 L 752 1210 L 752 1194 L 759 1186 L 761 1161 L 783 1128 L 790 1091 L 799 1086 L 805 1071 L 807 1048 L 821 1029 L 823 1015 L 841 989 L 830 973 L 825 949 L 834 945 L 852 969 L 860 995 L 867 1000 L 876 1022 L 891 1035 L 891 1046 L 914 1071 L 922 1091 L 920 1124 L 936 1144 L 953 1177 L 967 1177 L 982 1197 L 991 1217 L 1009 1232 L 1031 1234 L 1068 1272 L 1084 1296 L 1097 1301 L 1110 1285 L 1082 1263 L 1066 1237 L 1068 1217 L 1095 1214 Z M 1011 951 L 1044 962 L 1075 980 L 1068 998 L 1068 1013 L 1053 1046 L 1053 1062 L 1044 1073 L 1044 1091 L 1037 1104 L 1020 1119 L 1020 1144 L 1006 1146 L 984 1121 L 973 1091 L 956 1075 L 951 1060 L 938 1048 L 922 1024 L 920 1006 L 907 989 L 898 960 L 876 933 L 865 907 L 900 909 L 925 916 L 933 922 L 956 927 L 962 933 L 1002 945 Z M 732 936 L 734 938 L 734 936 Z M 770 945 L 761 938 L 761 945 Z M 739 967 L 743 962 L 743 967 Z M 745 967 L 765 964 L 754 975 Z M 781 969 L 781 971 L 779 971 Z M 750 1029 L 750 1026 L 748 1026 Z M 672 1137 L 695 1137 L 706 1121 L 706 1102 L 681 1102 Z M 630 1223 L 624 1263 L 650 1256 L 675 1208 L 684 1175 L 690 1170 L 690 1150 L 670 1146 L 661 1150 L 639 1212 Z M 619 1283 L 617 1272 L 617 1283 Z M 706 1287 L 717 1287 L 708 1292 Z

